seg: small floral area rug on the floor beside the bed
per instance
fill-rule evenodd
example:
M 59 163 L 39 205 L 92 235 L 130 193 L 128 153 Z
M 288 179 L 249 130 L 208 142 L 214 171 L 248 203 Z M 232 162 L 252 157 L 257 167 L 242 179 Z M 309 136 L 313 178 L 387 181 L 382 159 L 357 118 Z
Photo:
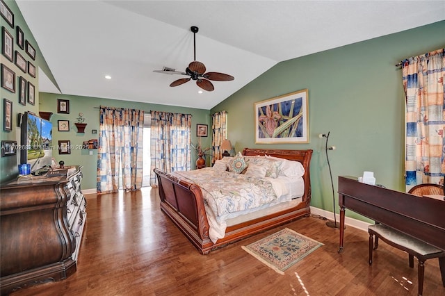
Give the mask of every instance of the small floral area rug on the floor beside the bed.
M 322 245 L 321 242 L 285 228 L 242 248 L 276 272 L 284 274 L 284 270 Z

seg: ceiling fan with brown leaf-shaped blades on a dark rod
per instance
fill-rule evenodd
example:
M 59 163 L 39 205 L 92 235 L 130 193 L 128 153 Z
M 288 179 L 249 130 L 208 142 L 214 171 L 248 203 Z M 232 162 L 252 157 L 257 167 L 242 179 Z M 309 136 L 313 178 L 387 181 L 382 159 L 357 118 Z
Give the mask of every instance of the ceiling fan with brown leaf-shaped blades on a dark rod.
M 219 73 L 219 72 L 207 72 L 206 73 L 206 66 L 204 66 L 203 63 L 198 62 L 196 60 L 196 33 L 199 31 L 199 28 L 197 26 L 191 26 L 191 31 L 193 32 L 193 62 L 188 64 L 188 67 L 186 68 L 186 72 L 179 72 L 175 71 L 175 69 L 164 67 L 162 70 L 154 70 L 154 72 L 157 73 L 164 73 L 164 74 L 180 74 L 180 75 L 186 75 L 190 76 L 188 78 L 181 78 L 178 80 L 173 81 L 170 83 L 171 87 L 178 86 L 181 84 L 184 84 L 188 81 L 194 80 L 196 81 L 196 85 L 202 88 L 203 90 L 207 90 L 208 92 L 211 92 L 215 88 L 213 88 L 213 84 L 210 82 L 212 81 L 231 81 L 234 80 L 234 76 Z

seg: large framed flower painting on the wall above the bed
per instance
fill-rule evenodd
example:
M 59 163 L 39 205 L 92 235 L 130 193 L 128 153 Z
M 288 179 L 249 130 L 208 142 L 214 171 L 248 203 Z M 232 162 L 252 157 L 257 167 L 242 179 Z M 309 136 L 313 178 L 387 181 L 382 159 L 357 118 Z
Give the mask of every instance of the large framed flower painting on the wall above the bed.
M 308 90 L 254 103 L 255 144 L 308 143 Z

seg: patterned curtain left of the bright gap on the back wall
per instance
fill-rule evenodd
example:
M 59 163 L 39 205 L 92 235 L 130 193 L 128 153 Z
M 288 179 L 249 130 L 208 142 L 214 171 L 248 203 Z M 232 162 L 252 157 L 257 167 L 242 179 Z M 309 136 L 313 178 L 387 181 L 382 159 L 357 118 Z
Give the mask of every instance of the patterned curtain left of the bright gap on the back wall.
M 144 111 L 100 107 L 97 192 L 142 187 Z

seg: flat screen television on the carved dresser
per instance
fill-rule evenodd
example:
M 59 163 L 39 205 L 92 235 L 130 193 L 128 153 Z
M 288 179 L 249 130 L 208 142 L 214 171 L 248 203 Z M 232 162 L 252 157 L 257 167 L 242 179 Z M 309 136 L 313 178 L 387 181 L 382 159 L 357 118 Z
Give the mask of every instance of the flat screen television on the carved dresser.
M 53 124 L 32 113 L 24 113 L 21 125 L 20 163 L 31 164 L 31 173 L 50 167 L 53 150 Z

